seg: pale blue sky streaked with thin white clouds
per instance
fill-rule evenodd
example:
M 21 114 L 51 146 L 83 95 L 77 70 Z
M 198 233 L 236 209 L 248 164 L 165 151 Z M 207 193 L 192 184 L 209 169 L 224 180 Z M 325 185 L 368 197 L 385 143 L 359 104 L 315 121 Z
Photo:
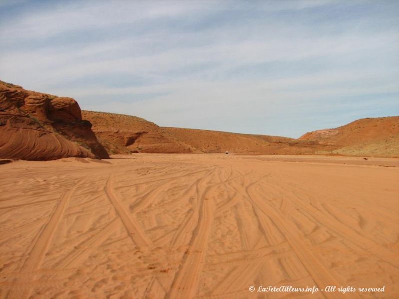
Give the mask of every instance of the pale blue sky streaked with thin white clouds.
M 0 79 L 160 126 L 399 115 L 398 0 L 0 0 Z

